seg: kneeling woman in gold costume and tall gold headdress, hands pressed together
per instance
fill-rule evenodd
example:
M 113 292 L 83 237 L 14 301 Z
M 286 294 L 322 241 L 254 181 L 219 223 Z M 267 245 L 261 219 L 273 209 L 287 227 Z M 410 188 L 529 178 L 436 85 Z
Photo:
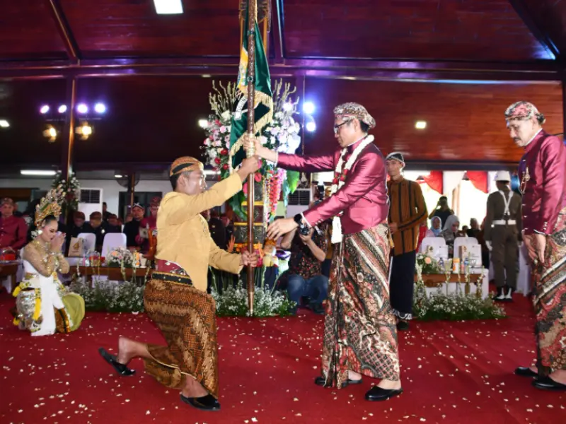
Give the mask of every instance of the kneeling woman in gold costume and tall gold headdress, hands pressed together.
M 69 272 L 69 263 L 61 253 L 64 234 L 57 234 L 61 214 L 61 193 L 52 191 L 42 199 L 35 213 L 37 235 L 23 248 L 25 276 L 16 287 L 14 324 L 32 336 L 69 333 L 79 328 L 84 317 L 84 300 L 69 293 L 57 277 L 57 271 Z

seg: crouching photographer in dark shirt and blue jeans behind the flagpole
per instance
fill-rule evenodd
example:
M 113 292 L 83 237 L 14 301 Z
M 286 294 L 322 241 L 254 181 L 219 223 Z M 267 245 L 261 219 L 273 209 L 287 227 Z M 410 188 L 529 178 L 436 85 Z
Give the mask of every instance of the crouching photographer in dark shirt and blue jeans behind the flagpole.
M 282 249 L 290 249 L 289 270 L 286 274 L 289 300 L 300 305 L 301 298 L 308 298 L 311 310 L 323 314 L 323 300 L 328 295 L 328 277 L 324 276 L 321 264 L 326 258 L 328 242 L 326 225 L 319 230 L 311 228 L 308 235 L 301 235 L 296 229 L 281 240 Z

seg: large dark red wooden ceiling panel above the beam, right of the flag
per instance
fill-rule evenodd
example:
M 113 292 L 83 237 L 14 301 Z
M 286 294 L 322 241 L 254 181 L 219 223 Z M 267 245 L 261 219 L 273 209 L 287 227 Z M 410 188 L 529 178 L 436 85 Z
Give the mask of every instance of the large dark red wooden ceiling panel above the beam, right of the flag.
M 287 57 L 553 59 L 508 0 L 286 0 Z

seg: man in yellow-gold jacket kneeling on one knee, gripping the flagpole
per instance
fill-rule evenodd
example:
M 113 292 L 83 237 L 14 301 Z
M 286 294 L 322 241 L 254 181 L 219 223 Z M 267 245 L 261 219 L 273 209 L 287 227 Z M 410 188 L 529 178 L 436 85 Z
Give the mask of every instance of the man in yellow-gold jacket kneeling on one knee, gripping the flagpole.
M 167 346 L 149 345 L 120 337 L 118 354 L 99 352 L 120 375 L 132 375 L 132 358 L 144 358 L 146 371 L 158 382 L 181 389 L 181 400 L 204 411 L 218 411 L 216 305 L 207 295 L 209 266 L 240 273 L 255 266 L 257 254 L 229 254 L 210 237 L 200 213 L 221 206 L 242 189 L 242 182 L 258 170 L 258 158 L 243 161 L 231 177 L 208 191 L 203 165 L 185 156 L 173 162 L 169 178 L 173 192 L 161 201 L 157 215 L 156 269 L 147 283 L 144 306 Z

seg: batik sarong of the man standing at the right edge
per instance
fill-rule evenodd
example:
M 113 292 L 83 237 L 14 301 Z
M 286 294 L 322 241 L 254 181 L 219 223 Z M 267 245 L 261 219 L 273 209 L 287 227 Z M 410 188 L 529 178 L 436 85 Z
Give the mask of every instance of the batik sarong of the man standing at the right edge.
M 545 261 L 534 275 L 538 374 L 548 375 L 566 370 L 566 209 L 546 237 Z

